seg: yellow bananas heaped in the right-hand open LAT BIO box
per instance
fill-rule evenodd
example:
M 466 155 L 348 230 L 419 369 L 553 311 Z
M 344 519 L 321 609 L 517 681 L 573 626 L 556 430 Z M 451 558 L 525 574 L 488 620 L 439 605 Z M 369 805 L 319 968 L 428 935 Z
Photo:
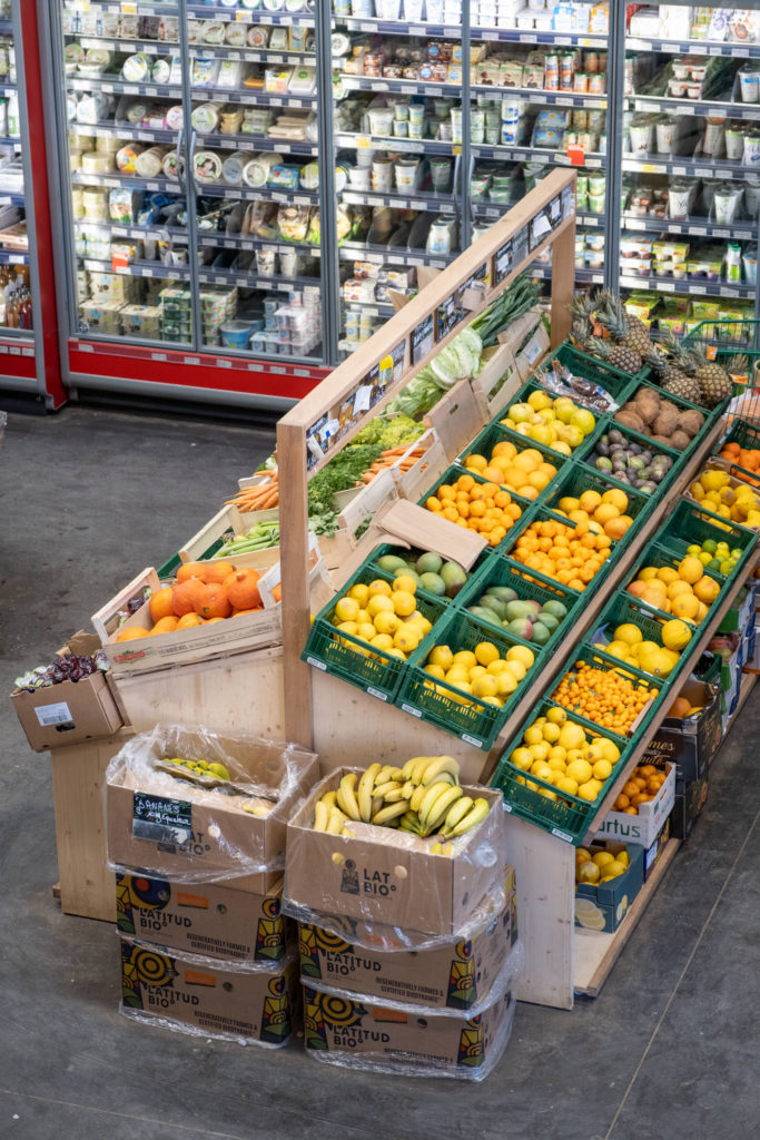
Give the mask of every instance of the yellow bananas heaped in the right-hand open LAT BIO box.
M 351 821 L 399 828 L 425 839 L 464 836 L 488 815 L 487 799 L 473 800 L 459 787 L 459 764 L 452 756 L 415 756 L 402 768 L 370 764 L 359 776 L 349 772 L 336 791 L 314 807 L 314 831 L 352 836 Z M 451 844 L 435 842 L 435 855 L 451 855 Z

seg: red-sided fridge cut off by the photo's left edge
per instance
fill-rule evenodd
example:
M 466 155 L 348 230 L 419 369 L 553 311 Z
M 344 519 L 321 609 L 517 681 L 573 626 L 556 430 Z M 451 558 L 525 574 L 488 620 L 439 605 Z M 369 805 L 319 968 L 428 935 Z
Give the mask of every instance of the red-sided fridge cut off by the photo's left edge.
M 34 10 L 0 0 L 0 391 L 52 409 L 65 393 L 42 133 Z

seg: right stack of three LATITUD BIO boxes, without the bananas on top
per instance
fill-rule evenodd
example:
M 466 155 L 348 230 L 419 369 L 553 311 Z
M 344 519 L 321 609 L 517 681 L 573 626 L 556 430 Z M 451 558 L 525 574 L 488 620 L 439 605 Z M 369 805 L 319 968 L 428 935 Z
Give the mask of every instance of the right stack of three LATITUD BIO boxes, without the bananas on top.
M 313 830 L 327 776 L 288 824 L 284 910 L 300 921 L 305 1047 L 317 1060 L 482 1080 L 512 1031 L 522 962 L 501 796 L 451 855 L 392 828 Z

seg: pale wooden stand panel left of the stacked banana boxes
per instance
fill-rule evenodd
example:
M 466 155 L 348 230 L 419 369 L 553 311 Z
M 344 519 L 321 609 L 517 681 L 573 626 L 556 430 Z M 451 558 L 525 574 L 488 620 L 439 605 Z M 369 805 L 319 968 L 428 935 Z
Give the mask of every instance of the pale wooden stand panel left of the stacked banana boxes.
M 114 873 L 106 866 L 103 785 L 108 762 L 133 734 L 120 728 L 50 750 L 60 906 L 66 914 L 116 921 Z

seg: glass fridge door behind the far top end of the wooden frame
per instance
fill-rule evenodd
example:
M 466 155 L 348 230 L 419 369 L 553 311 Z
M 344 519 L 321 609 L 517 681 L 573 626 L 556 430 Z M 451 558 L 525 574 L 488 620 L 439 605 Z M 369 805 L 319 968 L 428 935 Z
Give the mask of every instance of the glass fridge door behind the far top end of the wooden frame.
M 604 282 L 608 19 L 606 5 L 471 3 L 473 237 L 578 164 L 579 286 Z M 549 261 L 533 270 L 551 276 Z

